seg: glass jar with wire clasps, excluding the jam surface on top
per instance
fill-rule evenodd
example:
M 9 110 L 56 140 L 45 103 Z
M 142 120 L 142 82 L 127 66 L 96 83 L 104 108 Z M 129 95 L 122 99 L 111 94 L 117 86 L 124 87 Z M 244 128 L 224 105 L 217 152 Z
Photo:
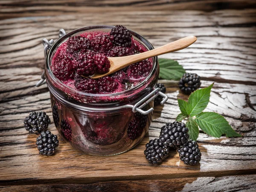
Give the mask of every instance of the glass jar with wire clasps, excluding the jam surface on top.
M 66 34 L 59 31 L 59 39 L 43 40 L 45 70 L 40 86 L 46 79 L 52 106 L 52 115 L 61 137 L 74 148 L 93 155 L 120 154 L 137 145 L 148 132 L 151 123 L 154 98 L 168 99 L 155 88 L 159 75 L 157 57 L 153 67 L 140 84 L 120 93 L 91 94 L 74 90 L 59 81 L 50 68 L 55 51 L 73 35 L 89 31 L 110 31 L 113 26 L 88 26 Z M 131 31 L 133 38 L 148 50 L 153 46 L 142 36 Z M 45 74 L 45 75 L 44 75 Z

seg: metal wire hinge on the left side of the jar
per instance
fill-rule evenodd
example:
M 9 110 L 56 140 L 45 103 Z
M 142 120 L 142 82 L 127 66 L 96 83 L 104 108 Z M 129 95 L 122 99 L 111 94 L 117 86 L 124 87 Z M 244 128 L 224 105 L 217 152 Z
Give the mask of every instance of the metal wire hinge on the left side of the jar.
M 63 35 L 66 35 L 66 32 L 64 29 L 60 29 L 59 30 L 59 38 L 61 38 Z M 52 47 L 54 43 L 54 40 L 51 39 L 50 41 L 48 41 L 46 38 L 44 38 L 42 40 L 42 44 L 44 45 L 44 64 L 46 64 L 46 57 L 47 57 L 47 53 L 49 51 L 49 49 Z M 37 84 L 35 84 L 36 87 L 41 86 L 43 83 L 45 82 L 45 76 L 44 76 L 44 72 L 41 75 L 41 79 L 37 82 Z

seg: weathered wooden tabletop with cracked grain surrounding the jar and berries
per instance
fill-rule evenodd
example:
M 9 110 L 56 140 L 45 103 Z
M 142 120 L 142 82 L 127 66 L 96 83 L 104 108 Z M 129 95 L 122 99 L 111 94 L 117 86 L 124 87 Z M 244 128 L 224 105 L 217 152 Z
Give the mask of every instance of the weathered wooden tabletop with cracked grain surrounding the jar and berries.
M 255 3 L 118 2 L 0 2 L 0 190 L 255 191 Z M 136 148 L 113 157 L 94 157 L 60 139 L 54 156 L 40 156 L 37 136 L 27 133 L 23 119 L 31 111 L 46 111 L 52 119 L 46 84 L 35 87 L 44 68 L 41 40 L 56 39 L 60 28 L 69 32 L 96 24 L 122 24 L 148 38 L 154 47 L 197 36 L 198 41 L 189 48 L 161 58 L 175 59 L 187 72 L 200 75 L 201 87 L 214 81 L 207 111 L 223 115 L 243 137 L 216 139 L 200 132 L 199 166 L 184 165 L 174 151 L 160 166 L 148 164 L 145 143 L 158 137 L 160 128 L 180 113 L 177 98 L 187 99 L 177 81 L 161 80 L 169 100 L 154 109 L 150 130 Z M 53 123 L 49 130 L 57 134 Z

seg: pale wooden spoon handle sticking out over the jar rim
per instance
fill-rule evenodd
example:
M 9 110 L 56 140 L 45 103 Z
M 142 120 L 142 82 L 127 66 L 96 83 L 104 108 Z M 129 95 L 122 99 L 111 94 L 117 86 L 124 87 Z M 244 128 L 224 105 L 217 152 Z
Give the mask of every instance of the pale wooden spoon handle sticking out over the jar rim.
M 140 54 L 126 56 L 124 61 L 125 61 L 126 66 L 128 66 L 130 64 L 137 63 L 138 61 L 142 61 L 146 58 L 154 57 L 157 55 L 163 55 L 165 53 L 175 52 L 175 51 L 184 49 L 186 47 L 189 47 L 189 45 L 193 44 L 196 40 L 197 40 L 197 38 L 195 36 L 188 36 L 188 37 L 179 39 L 177 41 L 174 41 L 172 43 L 163 45 L 161 47 L 157 47 L 156 49 L 152 49 L 150 51 L 146 51 L 146 52 L 143 52 Z

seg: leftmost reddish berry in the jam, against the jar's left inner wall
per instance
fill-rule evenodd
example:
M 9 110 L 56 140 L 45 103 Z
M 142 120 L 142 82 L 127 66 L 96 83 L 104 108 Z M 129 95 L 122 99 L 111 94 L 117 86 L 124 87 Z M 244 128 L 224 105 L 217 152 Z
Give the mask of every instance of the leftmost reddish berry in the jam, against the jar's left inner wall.
M 52 65 L 52 73 L 60 80 L 73 76 L 73 63 L 66 55 L 59 54 Z

